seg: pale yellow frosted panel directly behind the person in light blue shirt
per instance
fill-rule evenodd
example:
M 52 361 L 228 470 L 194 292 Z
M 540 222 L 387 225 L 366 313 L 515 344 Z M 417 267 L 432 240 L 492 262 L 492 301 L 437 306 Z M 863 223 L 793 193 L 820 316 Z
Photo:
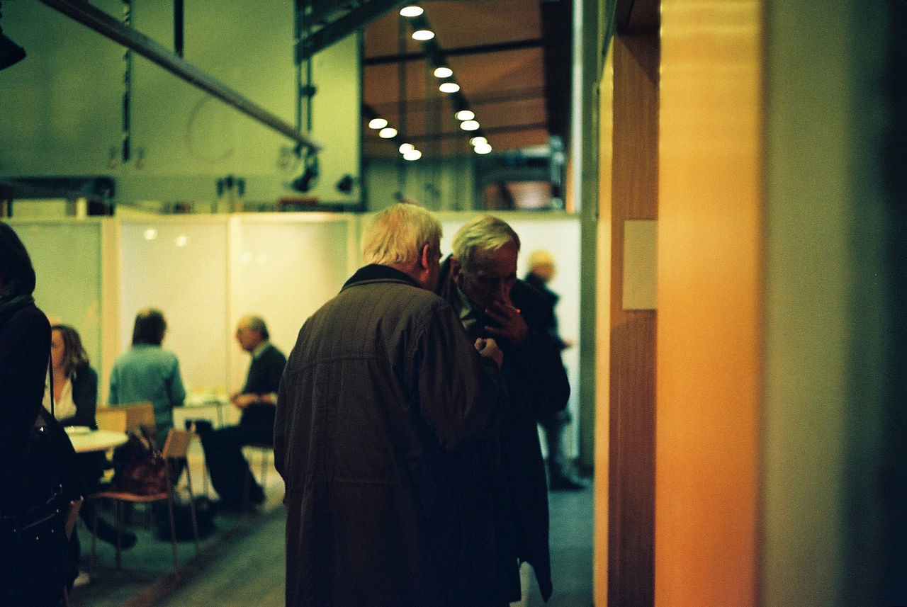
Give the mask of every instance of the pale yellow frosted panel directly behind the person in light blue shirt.
M 170 217 L 122 222 L 121 350 L 132 342 L 135 314 L 161 309 L 163 347 L 180 359 L 187 390 L 227 390 L 227 219 Z

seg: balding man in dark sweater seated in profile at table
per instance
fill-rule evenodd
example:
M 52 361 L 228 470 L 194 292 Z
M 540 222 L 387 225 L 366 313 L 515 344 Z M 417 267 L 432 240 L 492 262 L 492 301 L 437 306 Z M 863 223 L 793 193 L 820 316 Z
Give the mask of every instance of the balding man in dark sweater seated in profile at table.
M 239 426 L 215 430 L 211 429 L 210 423 L 197 421 L 196 431 L 205 450 L 211 485 L 220 496 L 221 506 L 240 510 L 245 506 L 243 492 L 247 482 L 249 504 L 265 501 L 264 489 L 252 477 L 242 447 L 251 443 L 274 444 L 274 411 L 287 357 L 268 341 L 268 326 L 258 316 L 245 316 L 239 320 L 236 340 L 252 355 L 246 385 L 230 397 L 233 404 L 242 409 Z

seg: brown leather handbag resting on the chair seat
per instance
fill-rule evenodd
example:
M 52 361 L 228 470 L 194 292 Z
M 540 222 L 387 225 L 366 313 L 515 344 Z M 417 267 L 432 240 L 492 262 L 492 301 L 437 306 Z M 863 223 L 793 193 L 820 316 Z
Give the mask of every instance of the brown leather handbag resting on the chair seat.
M 167 492 L 166 462 L 143 426 L 113 449 L 113 487 L 139 496 Z

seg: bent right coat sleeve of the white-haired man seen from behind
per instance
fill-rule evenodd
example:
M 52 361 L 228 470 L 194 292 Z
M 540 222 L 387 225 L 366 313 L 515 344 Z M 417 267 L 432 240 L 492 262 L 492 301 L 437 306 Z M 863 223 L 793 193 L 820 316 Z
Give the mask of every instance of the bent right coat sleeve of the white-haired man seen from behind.
M 418 386 L 419 410 L 444 448 L 497 424 L 507 406 L 501 373 L 476 352 L 449 305 L 434 307 L 414 348 L 409 381 Z

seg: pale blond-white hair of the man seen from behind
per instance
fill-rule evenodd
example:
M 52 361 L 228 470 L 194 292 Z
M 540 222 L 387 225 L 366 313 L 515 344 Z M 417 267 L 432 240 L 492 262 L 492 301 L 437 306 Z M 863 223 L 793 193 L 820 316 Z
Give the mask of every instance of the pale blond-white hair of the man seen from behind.
M 422 255 L 425 245 L 440 242 L 441 222 L 434 214 L 400 203 L 379 212 L 366 227 L 362 255 L 366 264 L 406 264 Z

